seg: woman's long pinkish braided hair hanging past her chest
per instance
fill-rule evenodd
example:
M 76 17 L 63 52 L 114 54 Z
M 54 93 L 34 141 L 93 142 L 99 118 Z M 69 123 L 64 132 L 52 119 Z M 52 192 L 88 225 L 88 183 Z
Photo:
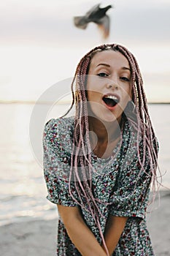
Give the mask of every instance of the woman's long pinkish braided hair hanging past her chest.
M 90 65 L 90 60 L 93 56 L 102 51 L 102 50 L 117 50 L 128 59 L 128 62 L 131 67 L 131 89 L 133 92 L 133 102 L 136 108 L 136 118 L 137 122 L 135 123 L 131 120 L 131 124 L 136 126 L 137 131 L 137 151 L 139 163 L 141 165 L 141 170 L 144 168 L 145 162 L 145 153 L 148 152 L 150 159 L 150 167 L 152 172 L 152 184 L 153 190 L 155 189 L 156 181 L 156 167 L 157 167 L 157 156 L 158 150 L 155 146 L 155 132 L 152 128 L 152 123 L 147 108 L 147 99 L 144 94 L 142 75 L 139 70 L 137 61 L 132 53 L 130 53 L 122 45 L 107 44 L 100 45 L 96 48 L 90 50 L 77 65 L 77 69 L 72 81 L 72 105 L 69 108 L 68 112 L 73 108 L 75 104 L 75 121 L 74 121 L 74 138 L 73 138 L 73 148 L 72 148 L 72 161 L 71 161 L 71 171 L 69 178 L 69 192 L 72 195 L 71 183 L 74 181 L 74 186 L 77 189 L 77 195 L 79 197 L 79 202 L 82 208 L 86 211 L 90 211 L 91 216 L 96 221 L 96 225 L 101 235 L 101 240 L 103 241 L 106 249 L 107 246 L 104 241 L 104 236 L 101 230 L 101 225 L 99 218 L 101 213 L 98 210 L 97 201 L 98 199 L 94 198 L 92 191 L 92 171 L 93 166 L 91 165 L 91 154 L 90 154 L 90 138 L 89 138 L 89 124 L 88 124 L 88 104 L 87 104 L 87 95 L 85 92 L 86 79 L 88 75 L 88 68 Z M 74 94 L 74 83 L 76 82 L 76 90 Z M 67 114 L 66 113 L 66 114 Z M 139 154 L 139 143 L 142 137 L 143 144 L 143 154 L 142 159 Z M 80 171 L 81 170 L 81 171 Z

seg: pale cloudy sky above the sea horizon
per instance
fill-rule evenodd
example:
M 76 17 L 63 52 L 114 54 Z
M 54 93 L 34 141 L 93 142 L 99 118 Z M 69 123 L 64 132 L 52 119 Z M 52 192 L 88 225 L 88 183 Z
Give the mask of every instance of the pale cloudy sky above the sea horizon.
M 96 0 L 6 0 L 0 2 L 0 101 L 37 101 L 60 80 L 72 80 L 82 56 L 96 45 L 117 42 L 136 56 L 149 102 L 170 102 L 170 1 L 115 0 L 110 36 L 96 24 L 77 29 Z M 68 83 L 68 89 L 70 84 Z M 62 89 L 58 86 L 62 94 Z

